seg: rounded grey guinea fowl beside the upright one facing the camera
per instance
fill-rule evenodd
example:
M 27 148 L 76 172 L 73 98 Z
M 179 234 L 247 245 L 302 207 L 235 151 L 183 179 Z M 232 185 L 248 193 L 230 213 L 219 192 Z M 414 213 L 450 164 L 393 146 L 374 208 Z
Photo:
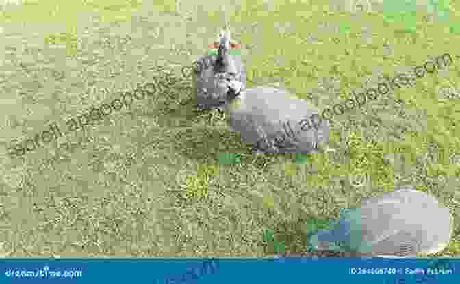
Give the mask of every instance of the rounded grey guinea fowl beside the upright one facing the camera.
M 318 109 L 283 88 L 240 88 L 229 92 L 225 109 L 230 127 L 259 153 L 316 153 L 329 140 L 326 120 L 310 129 L 303 125 L 305 119 L 320 115 Z

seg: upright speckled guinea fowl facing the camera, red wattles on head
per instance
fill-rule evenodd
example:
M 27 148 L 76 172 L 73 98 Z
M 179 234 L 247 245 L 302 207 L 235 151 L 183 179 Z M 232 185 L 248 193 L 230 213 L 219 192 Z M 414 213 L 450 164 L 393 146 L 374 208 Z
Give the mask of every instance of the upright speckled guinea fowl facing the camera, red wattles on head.
M 199 109 L 223 109 L 222 104 L 229 92 L 228 81 L 240 81 L 242 88 L 246 85 L 246 67 L 237 46 L 238 44 L 231 41 L 231 34 L 225 23 L 218 42 L 214 42 L 214 47 L 218 49 L 217 54 L 204 55 L 198 61 L 195 81 Z

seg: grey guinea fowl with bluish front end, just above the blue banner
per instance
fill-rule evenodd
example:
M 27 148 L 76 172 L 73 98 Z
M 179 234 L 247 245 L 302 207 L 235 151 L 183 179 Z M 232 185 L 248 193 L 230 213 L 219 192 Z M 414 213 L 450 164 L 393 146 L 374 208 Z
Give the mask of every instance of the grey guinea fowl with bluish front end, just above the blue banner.
M 310 239 L 315 250 L 374 257 L 438 253 L 452 237 L 453 218 L 435 197 L 411 186 L 366 198 Z

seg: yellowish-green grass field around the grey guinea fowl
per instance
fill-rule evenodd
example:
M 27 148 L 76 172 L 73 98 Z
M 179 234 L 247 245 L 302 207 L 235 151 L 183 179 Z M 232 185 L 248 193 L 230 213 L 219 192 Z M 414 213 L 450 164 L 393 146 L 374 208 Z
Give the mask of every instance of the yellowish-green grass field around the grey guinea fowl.
M 450 20 L 437 21 L 420 1 L 416 16 L 400 21 L 383 1 L 371 0 L 372 12 L 342 2 L 3 5 L 0 255 L 298 255 L 307 251 L 309 229 L 341 209 L 395 185 L 416 185 L 455 217 L 455 236 L 435 256 L 460 257 L 460 35 L 450 25 L 460 6 L 442 2 Z M 444 53 L 456 59 L 413 88 L 336 116 L 330 146 L 337 153 L 309 155 L 303 164 L 295 155 L 252 155 L 224 122 L 195 111 L 184 87 L 190 79 L 181 76 L 181 66 L 206 53 L 222 27 L 220 3 L 242 43 L 248 85 L 281 82 L 319 109 L 376 85 L 381 75 Z M 117 92 L 163 78 L 157 66 L 170 70 L 174 86 L 9 157 L 8 146 L 48 123 L 64 125 Z

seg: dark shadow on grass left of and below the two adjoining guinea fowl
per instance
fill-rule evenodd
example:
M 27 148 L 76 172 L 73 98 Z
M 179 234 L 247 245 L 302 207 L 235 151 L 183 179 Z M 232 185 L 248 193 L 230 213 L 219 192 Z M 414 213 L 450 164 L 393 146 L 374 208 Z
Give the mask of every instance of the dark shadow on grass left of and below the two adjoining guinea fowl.
M 146 116 L 157 116 L 160 127 L 171 128 L 174 132 L 172 143 L 179 153 L 200 162 L 212 160 L 227 166 L 253 164 L 259 169 L 276 162 L 279 154 L 256 154 L 251 145 L 242 142 L 238 133 L 214 127 L 212 112 L 197 109 L 192 79 L 167 73 L 167 76 L 160 76 L 157 80 L 162 88 Z M 291 156 L 294 157 L 283 154 L 281 159 L 288 160 Z M 295 155 L 296 164 L 304 164 L 307 156 Z

